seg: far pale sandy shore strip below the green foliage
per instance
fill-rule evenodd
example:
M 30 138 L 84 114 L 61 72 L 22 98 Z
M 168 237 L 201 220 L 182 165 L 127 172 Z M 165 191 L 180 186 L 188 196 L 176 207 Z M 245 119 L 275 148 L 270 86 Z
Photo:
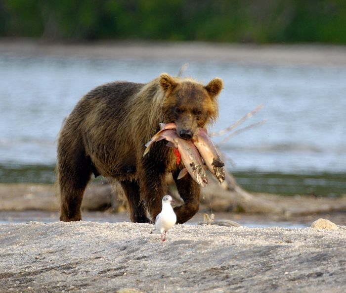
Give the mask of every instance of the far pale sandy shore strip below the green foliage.
M 237 45 L 203 42 L 44 43 L 30 39 L 0 39 L 0 54 L 56 55 L 190 61 L 277 64 L 346 64 L 345 46 Z

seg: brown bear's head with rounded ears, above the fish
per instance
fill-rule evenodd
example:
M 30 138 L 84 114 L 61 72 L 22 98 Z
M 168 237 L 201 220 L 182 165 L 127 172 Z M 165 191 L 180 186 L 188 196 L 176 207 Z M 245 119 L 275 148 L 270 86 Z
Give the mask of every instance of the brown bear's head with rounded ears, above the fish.
M 162 73 L 160 86 L 165 93 L 163 101 L 164 122 L 174 122 L 177 134 L 191 139 L 198 127 L 205 127 L 217 118 L 217 95 L 223 82 L 216 77 L 206 86 L 192 79 L 174 78 Z

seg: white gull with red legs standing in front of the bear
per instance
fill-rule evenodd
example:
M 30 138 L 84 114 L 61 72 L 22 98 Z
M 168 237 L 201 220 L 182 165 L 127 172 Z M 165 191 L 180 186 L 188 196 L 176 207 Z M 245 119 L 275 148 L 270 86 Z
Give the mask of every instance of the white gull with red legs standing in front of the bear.
M 156 216 L 155 230 L 151 232 L 161 233 L 162 244 L 164 244 L 164 241 L 166 241 L 166 232 L 170 230 L 176 222 L 176 215 L 171 202 L 174 202 L 171 195 L 165 195 L 162 198 L 162 210 L 161 213 Z

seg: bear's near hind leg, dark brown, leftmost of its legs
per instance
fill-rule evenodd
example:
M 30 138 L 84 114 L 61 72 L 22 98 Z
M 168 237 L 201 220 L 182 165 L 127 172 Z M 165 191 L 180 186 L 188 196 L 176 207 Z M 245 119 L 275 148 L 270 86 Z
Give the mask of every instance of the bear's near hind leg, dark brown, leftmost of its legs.
M 59 153 L 58 156 L 60 221 L 80 221 L 83 194 L 91 175 L 91 161 L 82 154 L 68 157 L 66 153 Z

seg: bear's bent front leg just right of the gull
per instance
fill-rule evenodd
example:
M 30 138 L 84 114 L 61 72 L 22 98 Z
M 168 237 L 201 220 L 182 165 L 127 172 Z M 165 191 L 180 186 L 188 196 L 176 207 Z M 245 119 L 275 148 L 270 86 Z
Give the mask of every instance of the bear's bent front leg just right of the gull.
M 174 212 L 176 214 L 176 223 L 182 224 L 198 212 L 201 187 L 188 174 L 179 180 L 176 179 L 179 171 L 173 173 L 173 179 L 180 197 L 184 200 L 184 204 L 175 207 Z

